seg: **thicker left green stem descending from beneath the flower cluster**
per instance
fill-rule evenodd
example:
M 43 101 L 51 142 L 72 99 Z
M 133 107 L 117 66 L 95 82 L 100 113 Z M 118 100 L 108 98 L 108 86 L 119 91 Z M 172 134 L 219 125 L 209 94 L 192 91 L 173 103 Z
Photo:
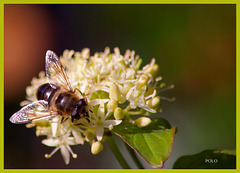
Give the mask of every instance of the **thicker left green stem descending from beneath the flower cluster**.
M 116 159 L 118 160 L 118 162 L 122 166 L 122 168 L 131 169 L 130 166 L 127 164 L 127 161 L 124 159 L 123 155 L 119 151 L 112 135 L 108 136 L 107 141 L 108 141 L 108 144 L 109 144 L 113 154 L 115 155 Z

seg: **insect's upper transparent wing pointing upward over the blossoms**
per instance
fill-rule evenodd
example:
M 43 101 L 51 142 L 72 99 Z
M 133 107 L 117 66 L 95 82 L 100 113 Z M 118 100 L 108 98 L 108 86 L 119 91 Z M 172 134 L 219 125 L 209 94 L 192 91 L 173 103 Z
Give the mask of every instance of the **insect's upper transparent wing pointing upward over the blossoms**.
M 53 51 L 48 50 L 46 53 L 45 68 L 51 87 L 55 88 L 55 85 L 58 85 L 69 91 L 73 91 L 65 70 L 58 56 Z

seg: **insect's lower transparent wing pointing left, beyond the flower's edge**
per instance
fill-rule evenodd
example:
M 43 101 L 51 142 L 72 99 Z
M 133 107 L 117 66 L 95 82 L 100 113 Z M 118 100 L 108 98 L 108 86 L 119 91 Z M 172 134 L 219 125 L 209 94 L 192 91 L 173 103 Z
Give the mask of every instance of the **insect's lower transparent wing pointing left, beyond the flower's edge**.
M 13 114 L 9 120 L 14 124 L 24 124 L 57 115 L 57 113 L 51 113 L 47 106 L 48 102 L 45 100 L 35 101 Z

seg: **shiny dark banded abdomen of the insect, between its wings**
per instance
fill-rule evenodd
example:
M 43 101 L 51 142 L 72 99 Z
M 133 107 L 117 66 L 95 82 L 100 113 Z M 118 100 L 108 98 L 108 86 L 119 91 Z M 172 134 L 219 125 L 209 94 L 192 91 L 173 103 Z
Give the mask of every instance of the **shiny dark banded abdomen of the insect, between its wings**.
M 56 86 L 56 85 L 54 85 Z M 48 106 L 50 106 L 50 102 L 56 93 L 57 90 L 60 88 L 56 86 L 55 88 L 51 87 L 50 84 L 46 83 L 41 85 L 37 90 L 37 99 L 38 100 L 45 100 L 48 102 Z

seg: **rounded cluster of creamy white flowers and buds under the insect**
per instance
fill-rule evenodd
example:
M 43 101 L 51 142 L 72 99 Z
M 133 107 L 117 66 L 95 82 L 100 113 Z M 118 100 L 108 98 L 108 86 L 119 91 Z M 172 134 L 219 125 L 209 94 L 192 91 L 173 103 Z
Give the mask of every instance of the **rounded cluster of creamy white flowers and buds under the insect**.
M 90 50 L 81 52 L 65 50 L 60 57 L 66 74 L 73 88 L 79 89 L 88 100 L 89 120 L 81 118 L 78 123 L 72 123 L 70 118 L 62 121 L 61 116 L 44 119 L 27 124 L 36 127 L 36 135 L 45 135 L 43 144 L 55 147 L 46 158 L 50 158 L 60 150 L 66 164 L 70 154 L 77 157 L 71 145 L 91 145 L 93 154 L 102 149 L 105 132 L 113 126 L 130 121 L 141 128 L 151 123 L 147 116 L 160 110 L 160 96 L 157 94 L 167 87 L 159 83 L 161 77 L 156 77 L 159 66 L 152 59 L 150 64 L 140 69 L 142 59 L 135 56 L 134 51 L 127 50 L 124 55 L 118 48 L 110 53 L 107 47 L 104 52 L 90 56 Z M 27 101 L 22 105 L 36 101 L 35 93 L 47 78 L 44 72 L 39 78 L 33 78 L 31 86 L 27 87 Z M 170 86 L 168 88 L 171 88 Z M 161 98 L 162 99 L 162 98 Z M 140 115 L 137 120 L 134 115 Z

